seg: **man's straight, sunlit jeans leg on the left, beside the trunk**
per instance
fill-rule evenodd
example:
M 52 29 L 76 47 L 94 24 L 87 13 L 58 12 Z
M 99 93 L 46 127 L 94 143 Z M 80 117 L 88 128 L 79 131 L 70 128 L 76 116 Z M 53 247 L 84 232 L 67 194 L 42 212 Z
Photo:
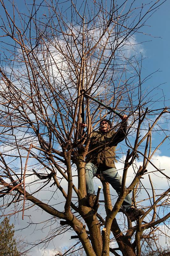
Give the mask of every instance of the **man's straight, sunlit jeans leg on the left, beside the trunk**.
M 94 194 L 93 177 L 97 172 L 97 167 L 92 163 L 85 165 L 85 182 L 87 195 Z

